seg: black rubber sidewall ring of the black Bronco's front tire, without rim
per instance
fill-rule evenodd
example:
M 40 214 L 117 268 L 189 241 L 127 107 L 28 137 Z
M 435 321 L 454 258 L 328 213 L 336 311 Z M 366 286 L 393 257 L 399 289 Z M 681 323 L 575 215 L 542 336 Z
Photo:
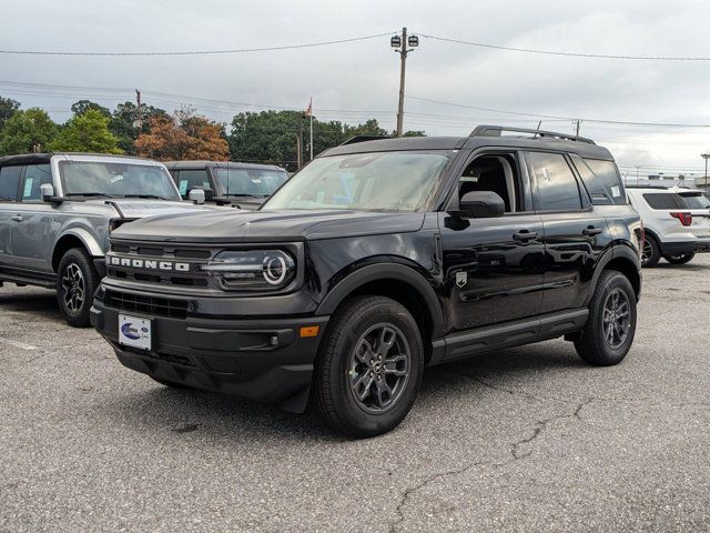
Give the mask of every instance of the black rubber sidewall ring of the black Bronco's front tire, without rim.
M 396 325 L 405 335 L 412 355 L 410 373 L 405 390 L 395 406 L 384 413 L 368 413 L 353 396 L 348 379 L 348 363 L 361 335 L 373 325 L 383 322 Z M 404 306 L 395 301 L 383 299 L 374 305 L 357 310 L 348 320 L 345 331 L 347 333 L 339 335 L 335 350 L 328 354 L 333 358 L 329 383 L 337 388 L 332 391 L 335 408 L 344 419 L 345 425 L 352 428 L 354 433 L 376 435 L 389 431 L 405 419 L 414 404 L 422 383 L 424 348 L 417 324 Z

